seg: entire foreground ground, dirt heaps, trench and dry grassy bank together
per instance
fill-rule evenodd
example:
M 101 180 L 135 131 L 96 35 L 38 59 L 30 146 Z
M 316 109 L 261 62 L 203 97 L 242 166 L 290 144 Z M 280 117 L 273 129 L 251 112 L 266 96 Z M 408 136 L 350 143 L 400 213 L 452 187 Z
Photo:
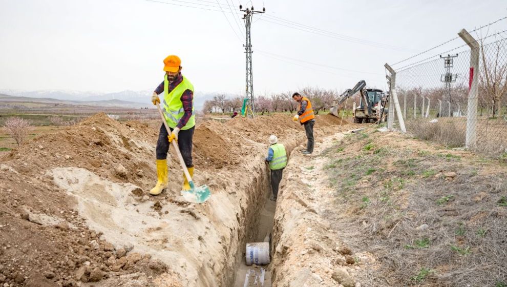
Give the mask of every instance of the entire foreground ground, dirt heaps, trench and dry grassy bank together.
M 87 112 L 59 127 L 54 113 L 18 113 L 38 123 L 20 147 L 2 129 L 1 283 L 244 286 L 261 268 L 264 286 L 507 282 L 501 159 L 327 114 L 305 156 L 304 129 L 289 114 L 204 115 L 195 181 L 212 197 L 194 204 L 180 196 L 174 155 L 168 188 L 147 195 L 157 119 Z M 289 154 L 276 202 L 264 162 L 270 134 Z M 245 265 L 245 244 L 261 241 L 271 262 Z

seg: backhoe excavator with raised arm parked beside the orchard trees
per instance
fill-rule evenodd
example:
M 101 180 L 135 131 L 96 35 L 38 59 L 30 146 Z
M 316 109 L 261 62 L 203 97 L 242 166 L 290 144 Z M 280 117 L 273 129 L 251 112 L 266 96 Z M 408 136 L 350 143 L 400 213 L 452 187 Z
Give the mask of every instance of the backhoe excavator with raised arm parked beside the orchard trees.
M 352 110 L 354 122 L 356 124 L 363 124 L 378 120 L 385 121 L 387 117 L 387 109 L 385 109 L 387 103 L 386 94 L 382 90 L 365 89 L 365 87 L 366 82 L 360 80 L 352 89 L 347 89 L 343 94 L 337 96 L 331 105 L 329 113 L 340 117 L 340 111 L 345 108 L 343 105 L 345 100 L 360 92 L 361 99 L 359 106 L 356 107 L 356 103 L 354 103 Z

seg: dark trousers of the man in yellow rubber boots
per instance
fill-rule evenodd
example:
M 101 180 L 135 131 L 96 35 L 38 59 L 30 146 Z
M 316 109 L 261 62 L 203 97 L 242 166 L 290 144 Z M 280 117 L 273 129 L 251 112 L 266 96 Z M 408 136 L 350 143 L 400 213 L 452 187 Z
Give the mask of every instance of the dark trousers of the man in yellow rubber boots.
M 171 132 L 172 128 L 169 128 Z M 187 168 L 194 167 L 192 163 L 192 138 L 194 137 L 195 126 L 188 130 L 181 130 L 178 133 L 178 146 L 180 147 L 181 156 L 183 156 L 183 161 L 185 161 L 185 165 Z M 164 124 L 160 127 L 160 132 L 158 133 L 157 140 L 157 159 L 166 159 L 167 152 L 169 151 L 169 139 L 167 138 L 169 134 L 165 129 Z

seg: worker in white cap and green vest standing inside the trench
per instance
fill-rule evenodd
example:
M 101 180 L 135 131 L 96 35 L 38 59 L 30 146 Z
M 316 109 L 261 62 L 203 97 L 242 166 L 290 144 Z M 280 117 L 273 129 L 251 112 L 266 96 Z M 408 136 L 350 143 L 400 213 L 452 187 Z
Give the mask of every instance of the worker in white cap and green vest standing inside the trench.
M 278 198 L 278 186 L 282 180 L 283 169 L 287 166 L 287 152 L 282 144 L 278 144 L 278 138 L 276 135 L 269 137 L 269 144 L 271 146 L 268 149 L 268 156 L 266 162 L 269 163 L 269 169 L 271 170 L 271 188 L 273 195 L 269 198 L 273 201 L 277 201 Z

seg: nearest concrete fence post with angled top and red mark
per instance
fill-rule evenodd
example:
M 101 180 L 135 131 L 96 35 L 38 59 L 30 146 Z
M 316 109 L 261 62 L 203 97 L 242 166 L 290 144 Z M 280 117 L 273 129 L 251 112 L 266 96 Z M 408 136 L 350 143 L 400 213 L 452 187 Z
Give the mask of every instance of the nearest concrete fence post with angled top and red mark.
M 470 35 L 467 30 L 461 29 L 458 35 L 470 47 L 470 91 L 468 94 L 467 108 L 467 137 L 465 147 L 467 149 L 475 147 L 477 140 L 477 95 L 479 80 L 479 43 Z

